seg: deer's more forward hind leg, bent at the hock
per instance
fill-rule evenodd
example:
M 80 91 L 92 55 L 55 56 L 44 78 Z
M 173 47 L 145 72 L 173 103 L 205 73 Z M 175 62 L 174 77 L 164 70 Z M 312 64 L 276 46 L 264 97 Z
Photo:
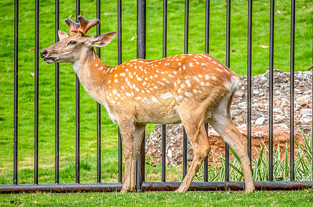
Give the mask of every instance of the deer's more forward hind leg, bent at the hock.
M 186 130 L 193 146 L 193 161 L 182 184 L 180 184 L 180 187 L 176 190 L 178 193 L 187 192 L 193 177 L 195 177 L 202 162 L 211 149 L 209 140 L 207 139 L 207 132 L 205 131 L 204 119 L 204 117 L 203 119 L 199 119 L 199 117 L 195 115 L 182 117 L 184 129 Z

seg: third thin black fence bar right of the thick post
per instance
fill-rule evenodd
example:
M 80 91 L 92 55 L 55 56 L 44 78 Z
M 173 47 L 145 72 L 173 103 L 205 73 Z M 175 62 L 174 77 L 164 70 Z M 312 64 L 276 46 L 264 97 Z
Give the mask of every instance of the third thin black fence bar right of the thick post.
M 209 27 L 210 27 L 210 0 L 207 0 L 205 2 L 205 52 L 207 54 L 209 54 Z M 207 132 L 208 135 L 208 128 L 209 125 L 207 123 L 205 123 L 205 131 Z M 208 161 L 208 157 L 205 157 L 205 161 L 204 161 L 204 181 L 209 181 L 208 177 L 208 165 L 209 165 L 209 161 Z

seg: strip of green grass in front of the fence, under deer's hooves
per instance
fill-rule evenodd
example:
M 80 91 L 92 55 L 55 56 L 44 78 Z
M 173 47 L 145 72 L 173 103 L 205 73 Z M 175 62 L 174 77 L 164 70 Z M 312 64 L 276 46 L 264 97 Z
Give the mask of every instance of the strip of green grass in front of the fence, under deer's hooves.
M 1 206 L 312 206 L 312 201 L 312 189 L 249 195 L 240 191 L 0 195 Z

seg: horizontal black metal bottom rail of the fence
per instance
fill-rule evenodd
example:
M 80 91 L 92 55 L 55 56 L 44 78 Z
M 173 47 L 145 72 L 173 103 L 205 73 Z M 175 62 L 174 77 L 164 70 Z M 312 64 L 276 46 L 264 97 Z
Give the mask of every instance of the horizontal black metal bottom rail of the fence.
M 142 182 L 142 191 L 173 191 L 181 182 Z M 122 183 L 107 184 L 23 184 L 2 185 L 0 194 L 48 191 L 54 193 L 75 192 L 112 192 L 120 191 Z M 189 190 L 244 190 L 244 181 L 196 181 L 192 182 Z M 299 190 L 313 188 L 313 181 L 254 181 L 256 190 Z

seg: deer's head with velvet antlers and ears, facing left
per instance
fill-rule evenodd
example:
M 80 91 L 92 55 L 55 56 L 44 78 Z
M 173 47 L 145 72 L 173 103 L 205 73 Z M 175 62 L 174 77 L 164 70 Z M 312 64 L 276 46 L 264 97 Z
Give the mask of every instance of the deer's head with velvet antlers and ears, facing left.
M 116 32 L 108 32 L 97 36 L 86 36 L 87 31 L 96 26 L 99 19 L 86 20 L 82 16 L 77 17 L 79 23 L 70 19 L 65 19 L 70 27 L 70 35 L 59 30 L 59 39 L 57 43 L 41 50 L 40 55 L 46 63 L 66 62 L 74 63 L 86 55 L 93 46 L 103 47 L 112 41 Z

